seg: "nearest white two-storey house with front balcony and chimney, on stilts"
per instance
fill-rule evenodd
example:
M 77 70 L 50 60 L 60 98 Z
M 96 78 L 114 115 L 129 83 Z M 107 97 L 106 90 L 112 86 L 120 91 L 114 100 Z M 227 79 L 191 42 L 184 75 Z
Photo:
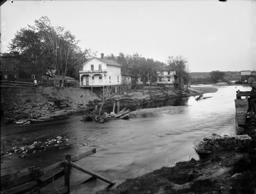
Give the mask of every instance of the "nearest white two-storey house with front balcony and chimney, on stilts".
M 80 86 L 108 86 L 121 84 L 121 65 L 115 61 L 93 57 L 79 71 Z

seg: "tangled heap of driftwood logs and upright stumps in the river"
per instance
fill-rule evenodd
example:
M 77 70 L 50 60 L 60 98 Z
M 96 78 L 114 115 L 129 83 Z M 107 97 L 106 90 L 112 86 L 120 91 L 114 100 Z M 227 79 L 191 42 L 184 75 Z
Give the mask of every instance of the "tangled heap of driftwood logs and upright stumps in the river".
M 117 118 L 128 119 L 128 117 L 130 116 L 129 115 L 130 109 L 126 110 L 126 107 L 125 107 L 119 113 L 115 113 L 115 105 L 116 103 L 114 103 L 113 111 L 110 114 L 102 111 L 102 105 L 99 110 L 97 109 L 97 105 L 96 105 L 95 109 L 92 112 L 90 111 L 88 115 L 83 116 L 81 121 L 93 121 L 95 123 L 103 123 L 103 122 L 108 122 L 111 119 L 117 119 Z

